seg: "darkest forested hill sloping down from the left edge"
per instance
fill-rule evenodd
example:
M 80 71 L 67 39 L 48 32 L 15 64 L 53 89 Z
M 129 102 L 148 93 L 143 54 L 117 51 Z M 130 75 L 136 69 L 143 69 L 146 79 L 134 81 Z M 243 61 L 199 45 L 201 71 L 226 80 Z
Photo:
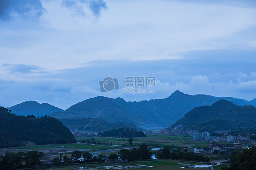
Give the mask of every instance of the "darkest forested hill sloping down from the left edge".
M 25 141 L 36 145 L 76 142 L 67 127 L 53 117 L 18 116 L 0 107 L 0 148 L 21 146 Z

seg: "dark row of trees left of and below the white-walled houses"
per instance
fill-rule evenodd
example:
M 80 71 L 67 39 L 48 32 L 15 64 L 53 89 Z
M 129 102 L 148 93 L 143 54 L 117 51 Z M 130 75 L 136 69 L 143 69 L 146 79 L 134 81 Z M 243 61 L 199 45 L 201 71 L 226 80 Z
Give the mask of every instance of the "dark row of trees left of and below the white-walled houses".
M 158 159 L 172 159 L 172 160 L 189 160 L 189 161 L 200 161 L 200 162 L 210 162 L 210 158 L 198 153 L 188 152 L 188 149 L 177 150 L 172 149 L 174 146 L 164 146 L 160 149 L 156 157 Z

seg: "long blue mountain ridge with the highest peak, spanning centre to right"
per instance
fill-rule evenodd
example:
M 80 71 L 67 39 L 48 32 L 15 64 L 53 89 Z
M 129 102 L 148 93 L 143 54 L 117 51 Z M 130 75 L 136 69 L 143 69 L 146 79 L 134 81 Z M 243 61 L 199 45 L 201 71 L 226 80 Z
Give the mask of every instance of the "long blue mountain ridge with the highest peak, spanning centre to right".
M 99 118 L 111 123 L 126 122 L 141 128 L 168 127 L 198 106 L 212 105 L 218 100 L 229 100 L 236 105 L 255 105 L 233 97 L 187 95 L 179 90 L 164 99 L 127 102 L 122 98 L 103 96 L 84 100 L 64 112 L 49 114 L 58 119 Z

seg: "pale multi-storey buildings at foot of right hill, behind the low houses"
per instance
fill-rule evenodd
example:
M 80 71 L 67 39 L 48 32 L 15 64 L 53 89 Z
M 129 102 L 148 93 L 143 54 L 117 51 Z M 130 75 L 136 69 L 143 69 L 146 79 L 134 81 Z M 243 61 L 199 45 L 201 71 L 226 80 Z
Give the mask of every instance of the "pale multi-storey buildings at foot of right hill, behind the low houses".
M 206 140 L 206 141 L 215 141 L 215 142 L 243 142 L 250 141 L 250 135 L 227 135 L 223 134 L 222 136 L 211 136 L 209 132 L 205 131 L 199 133 L 198 131 L 193 131 L 193 140 Z

